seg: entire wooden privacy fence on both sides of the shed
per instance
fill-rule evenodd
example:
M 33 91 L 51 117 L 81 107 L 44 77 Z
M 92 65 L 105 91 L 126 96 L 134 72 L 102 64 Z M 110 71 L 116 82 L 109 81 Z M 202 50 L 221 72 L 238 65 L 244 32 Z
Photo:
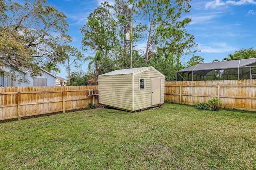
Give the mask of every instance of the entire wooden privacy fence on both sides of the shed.
M 220 107 L 256 111 L 256 80 L 165 82 L 165 101 L 194 105 L 218 98 Z M 98 104 L 98 86 L 0 87 L 0 120 Z

